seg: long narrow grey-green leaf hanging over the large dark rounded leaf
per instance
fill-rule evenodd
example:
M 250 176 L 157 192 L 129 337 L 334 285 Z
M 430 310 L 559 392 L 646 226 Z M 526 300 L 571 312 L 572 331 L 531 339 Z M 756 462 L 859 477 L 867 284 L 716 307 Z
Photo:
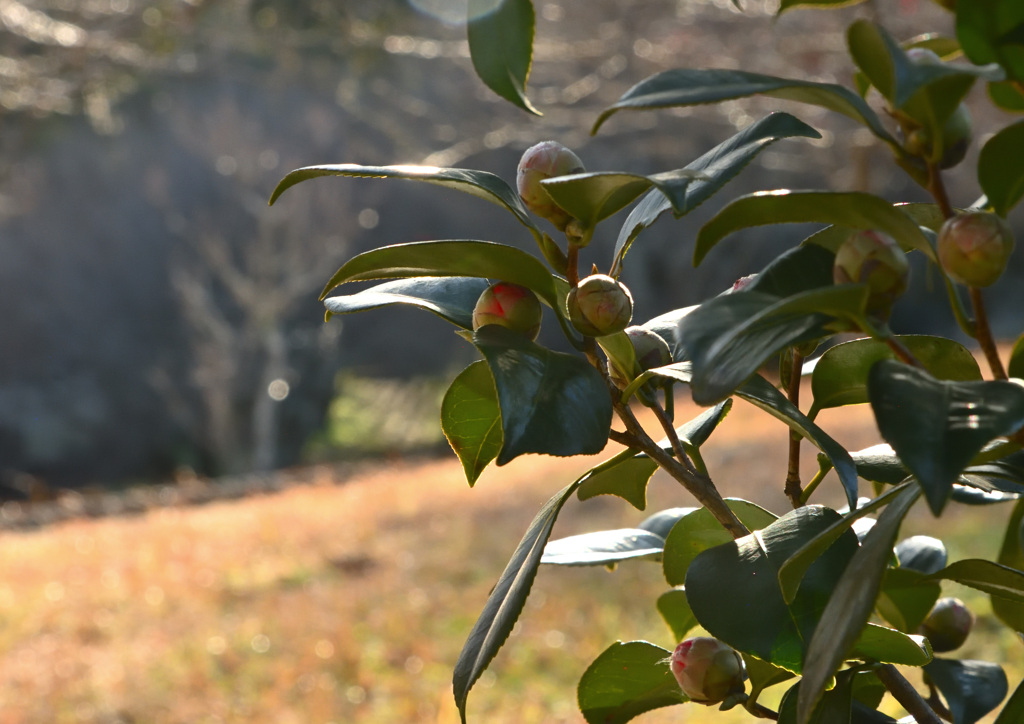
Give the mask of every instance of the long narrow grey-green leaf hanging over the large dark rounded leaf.
M 834 587 L 804 659 L 799 721 L 808 720 L 828 680 L 863 631 L 874 607 L 886 564 L 892 557 L 900 523 L 920 496 L 921 491 L 916 487 L 906 487 L 899 493 L 879 516 L 879 522 L 868 531 Z

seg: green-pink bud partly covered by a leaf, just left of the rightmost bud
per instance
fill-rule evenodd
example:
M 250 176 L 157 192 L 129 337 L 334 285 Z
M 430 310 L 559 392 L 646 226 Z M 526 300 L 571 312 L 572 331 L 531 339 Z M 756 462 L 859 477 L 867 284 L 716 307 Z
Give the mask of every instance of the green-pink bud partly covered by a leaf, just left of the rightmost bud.
M 854 231 L 836 252 L 836 284 L 866 284 L 867 312 L 888 318 L 893 302 L 906 291 L 910 267 L 891 237 L 873 229 Z

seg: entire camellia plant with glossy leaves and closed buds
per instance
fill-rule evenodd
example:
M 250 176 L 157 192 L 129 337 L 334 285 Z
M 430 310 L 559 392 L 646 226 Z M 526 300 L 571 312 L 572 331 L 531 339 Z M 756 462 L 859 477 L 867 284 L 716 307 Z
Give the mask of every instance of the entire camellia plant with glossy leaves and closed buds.
M 854 2 L 782 0 L 779 11 Z M 474 14 L 481 3 L 489 11 Z M 477 74 L 532 112 L 525 90 L 532 3 L 469 4 Z M 847 43 L 858 71 L 850 88 L 679 69 L 638 83 L 600 114 L 595 133 L 617 113 L 753 95 L 821 107 L 872 134 L 902 169 L 894 173 L 909 174 L 933 200 L 901 204 L 865 193 L 791 189 L 735 199 L 700 228 L 695 264 L 748 227 L 822 228 L 795 239 L 726 293 L 645 322 L 633 318 L 632 295 L 620 281 L 643 231 L 666 213 L 688 214 L 769 144 L 816 138 L 815 129 L 774 113 L 685 167 L 652 175 L 588 172 L 570 150 L 543 141 L 525 152 L 514 183 L 469 169 L 342 164 L 293 171 L 273 191 L 271 203 L 322 176 L 400 178 L 503 207 L 536 241 L 537 253 L 485 241 L 382 247 L 331 278 L 328 316 L 410 304 L 450 322 L 479 350 L 481 358 L 455 379 L 441 407 L 442 428 L 470 484 L 490 463 L 527 453 L 594 455 L 609 440 L 623 449 L 556 493 L 523 536 L 455 666 L 464 720 L 470 689 L 512 631 L 541 564 L 645 560 L 664 569 L 667 590 L 653 603 L 675 641 L 668 648 L 616 642 L 601 653 L 579 684 L 588 722 L 625 722 L 677 705 L 742 707 L 756 718 L 799 724 L 892 722 L 879 711 L 887 693 L 920 724 L 972 724 L 1000 707 L 997 724 L 1024 722 L 1024 686 L 1007 698 L 998 663 L 937 655 L 955 650 L 974 623 L 963 602 L 940 598 L 943 582 L 987 594 L 994 619 L 1010 632 L 1024 631 L 1024 336 L 1004 365 L 982 297 L 1013 253 L 1004 219 L 1024 196 L 1024 121 L 995 129 L 982 145 L 977 180 L 984 197 L 965 207 L 970 200 L 950 199 L 943 180 L 975 142 L 964 105 L 972 87 L 985 85 L 1000 109 L 1024 111 L 1024 11 L 1019 0 L 940 4 L 955 12 L 955 38 L 899 39 L 883 25 L 854 22 Z M 597 226 L 627 208 L 611 257 L 585 259 Z M 548 223 L 558 240 L 545 230 Z M 977 341 L 985 372 L 951 339 L 890 330 L 892 306 L 907 288 L 908 255 L 923 257 L 943 280 L 950 318 Z M 368 280 L 382 282 L 327 297 Z M 571 352 L 535 341 L 542 305 Z M 777 384 L 763 374 L 776 364 Z M 800 398 L 808 376 L 809 403 Z M 675 420 L 681 389 L 707 408 L 696 419 Z M 788 466 L 779 478 L 792 510 L 723 498 L 728 491 L 705 464 L 700 450 L 736 398 L 788 426 Z M 884 444 L 847 451 L 815 423 L 822 410 L 863 403 Z M 647 427 L 640 410 L 652 421 Z M 800 468 L 806 443 L 820 451 L 810 475 Z M 657 470 L 699 507 L 654 513 L 636 528 L 549 540 L 573 496 L 610 494 L 643 510 Z M 843 510 L 815 504 L 833 471 L 847 500 Z M 870 496 L 860 497 L 862 491 Z M 938 538 L 900 540 L 915 505 L 928 507 L 938 531 L 939 516 L 963 504 L 1014 506 L 991 558 L 950 562 Z M 710 636 L 691 636 L 697 627 Z M 904 676 L 907 667 L 924 671 L 921 683 Z M 776 685 L 785 687 L 778 711 L 759 700 Z

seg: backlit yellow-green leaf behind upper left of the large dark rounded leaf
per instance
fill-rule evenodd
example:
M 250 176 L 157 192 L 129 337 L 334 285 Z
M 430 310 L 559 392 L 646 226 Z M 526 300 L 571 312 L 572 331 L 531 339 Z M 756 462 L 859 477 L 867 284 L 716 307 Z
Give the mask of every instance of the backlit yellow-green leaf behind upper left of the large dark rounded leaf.
M 726 504 L 749 530 L 768 527 L 776 519 L 776 516 L 749 501 L 730 498 L 726 500 Z M 686 580 L 686 570 L 697 555 L 731 540 L 732 536 L 707 508 L 697 508 L 683 516 L 665 541 L 665 554 L 662 558 L 665 580 L 670 586 L 681 586 Z

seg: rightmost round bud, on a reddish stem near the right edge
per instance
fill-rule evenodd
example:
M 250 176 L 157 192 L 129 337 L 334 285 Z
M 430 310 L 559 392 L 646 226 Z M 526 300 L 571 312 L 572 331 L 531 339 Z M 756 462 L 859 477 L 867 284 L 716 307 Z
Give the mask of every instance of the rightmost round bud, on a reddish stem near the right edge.
M 1013 232 L 995 214 L 958 214 L 946 219 L 939 229 L 939 263 L 950 279 L 970 287 L 994 284 L 1013 250 Z

